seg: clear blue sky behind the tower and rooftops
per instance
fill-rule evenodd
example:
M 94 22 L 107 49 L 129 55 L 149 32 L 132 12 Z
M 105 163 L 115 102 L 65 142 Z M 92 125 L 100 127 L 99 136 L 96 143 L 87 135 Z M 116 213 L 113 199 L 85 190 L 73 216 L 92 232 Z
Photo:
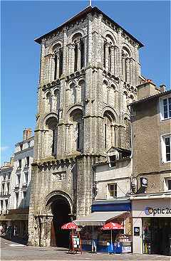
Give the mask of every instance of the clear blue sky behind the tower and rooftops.
M 145 47 L 142 75 L 170 88 L 170 1 L 92 1 Z M 24 128 L 35 128 L 40 46 L 33 39 L 58 27 L 88 1 L 1 1 L 1 162 Z

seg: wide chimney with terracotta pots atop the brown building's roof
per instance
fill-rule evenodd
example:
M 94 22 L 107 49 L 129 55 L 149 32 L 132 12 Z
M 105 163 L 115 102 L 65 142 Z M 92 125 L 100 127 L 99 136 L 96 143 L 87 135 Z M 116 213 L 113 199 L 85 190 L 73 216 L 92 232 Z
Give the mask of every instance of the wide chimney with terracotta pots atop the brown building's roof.
M 138 100 L 151 96 L 157 95 L 160 90 L 157 89 L 156 85 L 152 80 L 146 79 L 141 85 L 138 85 Z

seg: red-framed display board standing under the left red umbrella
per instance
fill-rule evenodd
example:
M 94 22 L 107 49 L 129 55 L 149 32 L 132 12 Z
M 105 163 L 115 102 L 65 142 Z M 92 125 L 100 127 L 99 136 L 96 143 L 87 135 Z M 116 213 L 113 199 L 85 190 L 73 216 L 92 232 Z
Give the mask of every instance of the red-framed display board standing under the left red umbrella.
M 81 252 L 81 255 L 82 255 L 80 233 L 79 232 L 73 233 L 73 230 L 72 230 L 72 232 L 70 234 L 70 245 L 69 245 L 68 253 L 75 254 L 77 252 Z

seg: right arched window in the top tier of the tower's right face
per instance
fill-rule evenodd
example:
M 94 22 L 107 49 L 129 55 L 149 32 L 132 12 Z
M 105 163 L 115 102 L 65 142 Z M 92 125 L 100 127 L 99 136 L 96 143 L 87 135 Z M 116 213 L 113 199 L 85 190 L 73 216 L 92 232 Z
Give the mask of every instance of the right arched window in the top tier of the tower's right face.
M 130 83 L 130 51 L 125 47 L 122 50 L 122 75 L 123 80 Z

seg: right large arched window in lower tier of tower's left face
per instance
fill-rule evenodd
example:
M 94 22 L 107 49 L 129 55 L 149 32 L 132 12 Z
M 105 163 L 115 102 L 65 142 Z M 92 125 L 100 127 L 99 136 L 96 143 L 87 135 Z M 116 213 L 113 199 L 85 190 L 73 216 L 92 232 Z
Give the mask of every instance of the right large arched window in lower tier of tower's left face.
M 70 144 L 71 151 L 83 149 L 83 112 L 74 110 L 70 115 Z

